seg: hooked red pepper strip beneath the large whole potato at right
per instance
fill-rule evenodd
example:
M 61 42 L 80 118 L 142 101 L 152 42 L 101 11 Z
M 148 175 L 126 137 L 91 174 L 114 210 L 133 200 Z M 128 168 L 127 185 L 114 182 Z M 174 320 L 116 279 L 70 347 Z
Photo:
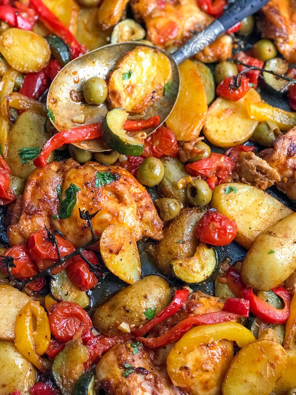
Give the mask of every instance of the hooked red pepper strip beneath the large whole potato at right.
M 291 297 L 284 287 L 278 287 L 273 292 L 283 299 L 283 308 L 275 308 L 269 305 L 255 295 L 252 288 L 245 288 L 242 291 L 242 297 L 250 301 L 251 312 L 263 322 L 267 324 L 285 324 L 290 316 Z

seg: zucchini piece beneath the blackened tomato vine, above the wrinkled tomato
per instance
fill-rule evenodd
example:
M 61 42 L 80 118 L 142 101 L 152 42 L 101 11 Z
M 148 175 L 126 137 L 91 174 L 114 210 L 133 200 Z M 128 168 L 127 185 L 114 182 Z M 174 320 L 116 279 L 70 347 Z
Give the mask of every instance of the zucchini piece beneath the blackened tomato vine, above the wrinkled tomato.
M 51 294 L 54 299 L 59 301 L 75 302 L 82 308 L 90 305 L 90 301 L 85 291 L 81 291 L 69 279 L 66 270 L 54 275 L 56 280 L 51 280 Z

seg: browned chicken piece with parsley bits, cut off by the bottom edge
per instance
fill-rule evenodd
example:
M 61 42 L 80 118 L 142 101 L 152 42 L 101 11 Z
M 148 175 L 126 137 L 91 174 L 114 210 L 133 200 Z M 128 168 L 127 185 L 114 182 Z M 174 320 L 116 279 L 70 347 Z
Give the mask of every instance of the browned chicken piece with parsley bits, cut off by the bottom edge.
M 99 387 L 109 395 L 179 395 L 182 392 L 172 385 L 167 372 L 152 365 L 149 352 L 142 346 L 133 355 L 129 343 L 112 347 L 101 357 L 96 367 Z M 122 376 L 125 364 L 131 365 L 134 372 Z

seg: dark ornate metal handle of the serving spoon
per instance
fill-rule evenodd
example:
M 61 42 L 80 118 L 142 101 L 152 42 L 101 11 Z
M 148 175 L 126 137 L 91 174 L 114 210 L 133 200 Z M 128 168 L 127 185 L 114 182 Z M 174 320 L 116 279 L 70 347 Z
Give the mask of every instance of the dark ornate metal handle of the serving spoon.
M 267 2 L 268 0 L 236 0 L 219 19 L 193 36 L 172 55 L 176 64 L 180 64 L 202 51 L 233 25 L 259 11 Z

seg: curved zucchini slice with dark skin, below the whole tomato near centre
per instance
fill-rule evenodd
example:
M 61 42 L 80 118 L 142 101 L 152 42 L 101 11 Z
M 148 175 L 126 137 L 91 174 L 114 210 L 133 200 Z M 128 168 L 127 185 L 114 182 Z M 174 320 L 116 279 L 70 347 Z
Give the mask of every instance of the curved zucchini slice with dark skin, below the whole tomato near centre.
M 208 279 L 217 266 L 217 256 L 214 248 L 204 243 L 197 246 L 191 258 L 177 258 L 171 262 L 176 277 L 189 284 L 197 284 Z

